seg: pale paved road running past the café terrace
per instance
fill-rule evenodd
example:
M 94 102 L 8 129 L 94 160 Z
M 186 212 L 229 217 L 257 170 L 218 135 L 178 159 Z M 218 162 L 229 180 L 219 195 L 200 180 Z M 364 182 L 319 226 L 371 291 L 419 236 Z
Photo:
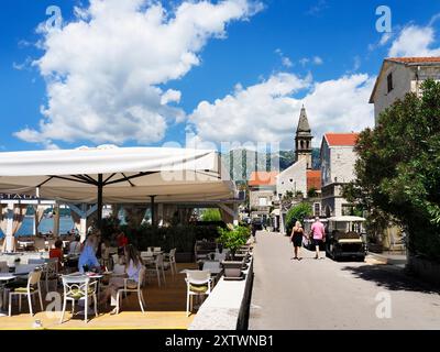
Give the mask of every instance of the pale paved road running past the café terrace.
M 439 293 L 402 268 L 315 260 L 304 249 L 298 262 L 287 237 L 256 239 L 250 330 L 440 329 Z

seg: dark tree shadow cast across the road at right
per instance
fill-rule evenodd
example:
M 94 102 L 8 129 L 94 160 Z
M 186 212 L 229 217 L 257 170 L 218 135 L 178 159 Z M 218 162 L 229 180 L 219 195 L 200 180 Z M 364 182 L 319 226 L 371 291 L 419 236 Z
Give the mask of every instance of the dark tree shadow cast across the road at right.
M 350 272 L 355 277 L 374 282 L 377 286 L 389 290 L 409 290 L 426 294 L 440 293 L 428 284 L 409 276 L 404 268 L 389 265 L 345 266 L 342 271 Z

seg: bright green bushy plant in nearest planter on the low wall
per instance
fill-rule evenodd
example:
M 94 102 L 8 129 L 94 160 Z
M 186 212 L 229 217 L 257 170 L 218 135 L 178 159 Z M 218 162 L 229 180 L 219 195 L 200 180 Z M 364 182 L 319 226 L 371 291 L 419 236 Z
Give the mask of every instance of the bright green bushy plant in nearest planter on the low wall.
M 224 276 L 226 278 L 241 278 L 246 254 L 238 255 L 237 251 L 246 244 L 250 230 L 246 227 L 228 227 L 227 229 L 219 228 L 218 231 L 220 233 L 218 241 L 230 251 L 229 260 L 222 262 Z

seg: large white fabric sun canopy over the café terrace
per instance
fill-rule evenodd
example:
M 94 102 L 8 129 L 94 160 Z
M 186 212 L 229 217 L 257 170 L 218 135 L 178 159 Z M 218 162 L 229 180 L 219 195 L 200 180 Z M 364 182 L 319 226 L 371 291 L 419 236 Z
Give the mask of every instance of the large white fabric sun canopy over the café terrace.
M 237 190 L 209 150 L 97 147 L 0 153 L 0 193 L 65 202 L 207 201 Z

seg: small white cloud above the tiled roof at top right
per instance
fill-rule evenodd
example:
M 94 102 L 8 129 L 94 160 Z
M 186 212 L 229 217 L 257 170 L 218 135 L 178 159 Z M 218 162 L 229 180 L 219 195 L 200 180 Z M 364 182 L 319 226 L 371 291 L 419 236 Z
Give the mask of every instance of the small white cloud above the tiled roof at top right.
M 388 56 L 439 56 L 440 47 L 432 47 L 435 44 L 436 31 L 432 26 L 411 24 L 404 28 L 394 40 Z

